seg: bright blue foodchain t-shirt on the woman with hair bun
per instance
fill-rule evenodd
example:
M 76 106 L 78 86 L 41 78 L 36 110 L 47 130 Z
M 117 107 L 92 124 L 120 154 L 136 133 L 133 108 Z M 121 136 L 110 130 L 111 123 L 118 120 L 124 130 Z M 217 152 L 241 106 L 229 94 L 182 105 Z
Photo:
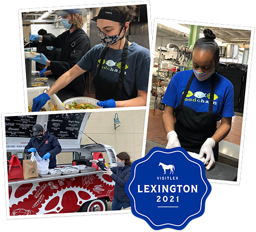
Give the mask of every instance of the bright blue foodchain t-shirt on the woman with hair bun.
M 182 100 L 183 92 L 193 70 L 176 73 L 170 81 L 163 96 L 162 103 L 176 108 Z M 199 81 L 194 77 L 184 105 L 197 111 L 209 111 L 211 79 Z M 215 78 L 214 107 L 213 113 L 219 121 L 221 117 L 229 118 L 234 116 L 234 88 L 232 83 L 225 77 L 217 74 Z

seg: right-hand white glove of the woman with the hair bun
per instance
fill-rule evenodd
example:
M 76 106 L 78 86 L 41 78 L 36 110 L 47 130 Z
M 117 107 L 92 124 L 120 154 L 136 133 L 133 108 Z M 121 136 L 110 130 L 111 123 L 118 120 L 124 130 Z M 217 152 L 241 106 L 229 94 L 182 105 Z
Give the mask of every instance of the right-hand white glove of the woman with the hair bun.
M 214 160 L 214 154 L 213 154 L 213 148 L 215 147 L 215 141 L 212 138 L 206 139 L 204 144 L 201 146 L 200 152 L 199 152 L 199 158 L 203 158 L 204 154 L 206 154 L 206 158 L 204 161 L 205 168 L 207 170 L 212 167 L 212 165 L 215 163 Z

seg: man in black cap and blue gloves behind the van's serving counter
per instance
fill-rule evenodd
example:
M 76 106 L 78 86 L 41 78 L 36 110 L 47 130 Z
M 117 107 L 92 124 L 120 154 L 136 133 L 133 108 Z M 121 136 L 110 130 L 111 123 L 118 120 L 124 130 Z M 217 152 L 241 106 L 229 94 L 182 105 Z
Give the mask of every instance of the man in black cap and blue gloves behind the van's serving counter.
M 56 155 L 62 151 L 61 144 L 54 135 L 50 135 L 40 124 L 32 127 L 33 137 L 25 146 L 24 153 L 37 152 L 43 159 L 49 159 L 49 169 L 56 168 Z

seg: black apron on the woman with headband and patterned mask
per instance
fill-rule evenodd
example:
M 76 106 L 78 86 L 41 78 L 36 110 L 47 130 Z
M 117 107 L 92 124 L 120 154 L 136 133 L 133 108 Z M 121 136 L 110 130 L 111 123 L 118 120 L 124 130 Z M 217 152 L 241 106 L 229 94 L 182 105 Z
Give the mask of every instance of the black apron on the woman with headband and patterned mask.
M 102 55 L 100 58 L 100 65 L 93 81 L 95 86 L 95 97 L 97 100 L 106 101 L 106 100 L 114 99 L 115 101 L 124 101 L 131 98 L 124 88 L 125 65 L 126 65 L 128 47 L 129 47 L 129 43 L 128 43 L 128 40 L 126 40 L 124 49 L 123 49 L 122 60 L 121 60 L 122 62 L 121 72 L 117 82 L 108 82 L 101 79 L 99 73 L 102 67 L 102 62 L 106 56 L 106 53 L 108 52 L 109 47 L 106 47 L 102 52 Z

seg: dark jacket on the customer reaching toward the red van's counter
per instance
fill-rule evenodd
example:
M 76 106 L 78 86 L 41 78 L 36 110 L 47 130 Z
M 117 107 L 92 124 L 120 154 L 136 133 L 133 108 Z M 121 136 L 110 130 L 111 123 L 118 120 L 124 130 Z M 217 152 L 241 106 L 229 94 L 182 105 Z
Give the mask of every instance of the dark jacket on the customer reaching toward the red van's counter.
M 104 163 L 101 161 L 99 161 L 97 164 L 102 170 L 106 168 Z M 131 176 L 131 166 L 127 164 L 122 168 L 113 167 L 110 170 L 113 172 L 113 174 L 110 177 L 115 181 L 115 199 L 119 202 L 130 202 L 130 198 L 127 196 L 125 192 L 125 184 Z

